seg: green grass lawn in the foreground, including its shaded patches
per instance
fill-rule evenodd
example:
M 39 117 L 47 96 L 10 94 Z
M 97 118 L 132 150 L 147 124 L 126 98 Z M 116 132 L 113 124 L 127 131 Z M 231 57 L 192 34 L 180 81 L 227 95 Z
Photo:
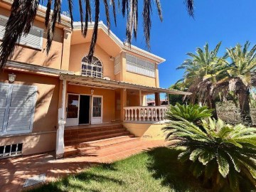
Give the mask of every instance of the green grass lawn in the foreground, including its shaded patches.
M 31 191 L 206 191 L 177 161 L 178 151 L 159 147 L 113 164 L 86 169 Z

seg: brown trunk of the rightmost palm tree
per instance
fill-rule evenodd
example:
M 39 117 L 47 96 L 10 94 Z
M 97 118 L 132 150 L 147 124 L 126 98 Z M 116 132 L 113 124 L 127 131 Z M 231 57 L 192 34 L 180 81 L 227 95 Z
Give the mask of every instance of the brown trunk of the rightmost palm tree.
M 245 85 L 240 86 L 238 90 L 238 99 L 240 107 L 240 117 L 243 124 L 252 125 L 252 117 L 250 117 L 250 92 Z

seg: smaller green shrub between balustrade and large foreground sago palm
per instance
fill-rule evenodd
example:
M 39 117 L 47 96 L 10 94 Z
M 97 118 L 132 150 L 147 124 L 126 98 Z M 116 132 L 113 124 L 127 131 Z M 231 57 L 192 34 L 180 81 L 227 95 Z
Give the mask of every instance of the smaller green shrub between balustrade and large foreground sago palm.
M 188 122 L 193 122 L 195 124 L 200 124 L 201 119 L 212 116 L 213 110 L 208 110 L 208 107 L 200 105 L 181 105 L 176 103 L 176 105 L 171 105 L 169 111 L 166 112 L 166 119 L 171 121 L 186 119 Z

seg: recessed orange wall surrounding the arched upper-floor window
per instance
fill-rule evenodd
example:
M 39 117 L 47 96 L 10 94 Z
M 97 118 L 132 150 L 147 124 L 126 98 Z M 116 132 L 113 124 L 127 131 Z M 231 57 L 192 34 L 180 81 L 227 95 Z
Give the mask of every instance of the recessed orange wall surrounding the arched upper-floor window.
M 76 75 L 81 73 L 82 58 L 89 53 L 90 43 L 80 43 L 72 45 L 70 48 L 70 67 L 69 70 L 75 72 Z M 114 77 L 114 61 L 110 60 L 105 50 L 99 45 L 95 47 L 95 57 L 100 59 L 103 66 L 103 76 L 115 80 Z

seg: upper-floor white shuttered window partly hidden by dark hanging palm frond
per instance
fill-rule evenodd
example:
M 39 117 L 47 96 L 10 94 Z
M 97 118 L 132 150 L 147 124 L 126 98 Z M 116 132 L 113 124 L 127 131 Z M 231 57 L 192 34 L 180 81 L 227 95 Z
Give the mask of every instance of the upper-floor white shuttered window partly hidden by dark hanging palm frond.
M 5 26 L 8 21 L 8 17 L 0 15 L 0 40 L 4 37 Z M 32 48 L 42 49 L 43 46 L 43 28 L 32 26 L 28 35 L 21 36 L 21 40 L 18 42 L 21 45 L 29 46 Z

